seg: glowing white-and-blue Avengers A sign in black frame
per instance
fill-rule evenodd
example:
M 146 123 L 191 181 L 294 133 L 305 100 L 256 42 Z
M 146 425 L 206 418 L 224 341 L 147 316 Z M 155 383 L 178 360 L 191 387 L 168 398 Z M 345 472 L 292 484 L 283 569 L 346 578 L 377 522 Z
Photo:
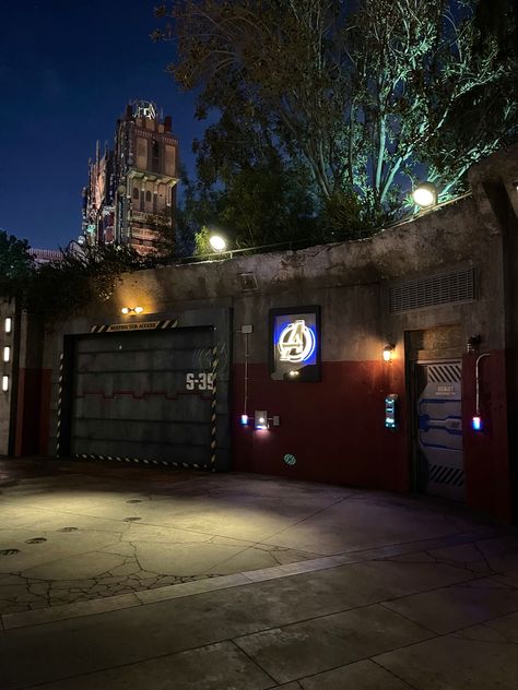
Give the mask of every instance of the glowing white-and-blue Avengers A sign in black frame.
M 270 310 L 270 372 L 279 381 L 320 380 L 320 309 Z

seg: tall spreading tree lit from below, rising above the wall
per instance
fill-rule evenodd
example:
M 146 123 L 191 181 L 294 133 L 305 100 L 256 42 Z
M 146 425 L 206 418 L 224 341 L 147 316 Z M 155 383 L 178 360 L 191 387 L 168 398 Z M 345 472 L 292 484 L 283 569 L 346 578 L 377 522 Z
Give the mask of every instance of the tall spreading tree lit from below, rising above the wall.
M 197 144 L 201 187 L 228 191 L 273 148 L 283 170 L 307 169 L 323 226 L 342 233 L 397 218 L 419 178 L 442 199 L 459 192 L 516 136 L 513 23 L 484 31 L 483 2 L 163 4 L 170 23 L 155 37 L 176 41 L 172 74 L 198 90 L 199 117 L 220 115 Z

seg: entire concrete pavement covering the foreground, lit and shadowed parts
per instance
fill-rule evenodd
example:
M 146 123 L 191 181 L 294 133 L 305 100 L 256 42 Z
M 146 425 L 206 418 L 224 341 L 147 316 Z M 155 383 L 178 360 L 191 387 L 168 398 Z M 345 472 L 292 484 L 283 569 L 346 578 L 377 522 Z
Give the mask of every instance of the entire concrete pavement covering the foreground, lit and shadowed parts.
M 0 490 L 2 690 L 516 690 L 518 538 L 461 508 L 49 461 Z

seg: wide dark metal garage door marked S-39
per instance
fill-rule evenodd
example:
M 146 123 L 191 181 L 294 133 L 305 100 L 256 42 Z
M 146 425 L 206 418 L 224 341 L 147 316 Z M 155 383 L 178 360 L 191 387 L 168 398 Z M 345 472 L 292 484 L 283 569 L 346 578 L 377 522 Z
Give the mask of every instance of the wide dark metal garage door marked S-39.
M 209 467 L 213 333 L 186 328 L 78 336 L 70 453 Z

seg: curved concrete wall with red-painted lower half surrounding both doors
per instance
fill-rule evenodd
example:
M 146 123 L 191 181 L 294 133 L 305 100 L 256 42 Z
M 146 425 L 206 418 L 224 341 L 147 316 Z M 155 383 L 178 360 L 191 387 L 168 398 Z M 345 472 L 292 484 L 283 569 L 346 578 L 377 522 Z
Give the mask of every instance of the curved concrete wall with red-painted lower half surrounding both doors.
M 507 369 L 516 359 L 509 359 L 506 349 L 514 331 L 505 313 L 505 276 L 510 269 L 503 236 L 509 230 L 513 214 L 508 211 L 508 221 L 503 223 L 491 203 L 487 206 L 487 193 L 482 183 L 473 182 L 472 195 L 368 240 L 121 276 L 108 302 L 92 306 L 81 319 L 47 334 L 43 377 L 52 382 L 48 403 L 50 452 L 63 334 L 120 322 L 120 309 L 128 305 L 144 307 L 142 320 L 177 318 L 199 309 L 232 309 L 235 469 L 408 490 L 413 486 L 408 390 L 411 358 L 462 358 L 467 502 L 508 520 Z M 516 259 L 516 251 L 514 255 Z M 390 313 L 391 286 L 471 267 L 475 271 L 475 299 Z M 254 275 L 256 289 L 244 288 L 243 274 Z M 273 381 L 268 369 L 269 310 L 307 305 L 321 308 L 321 381 Z M 279 427 L 266 432 L 238 424 L 244 409 L 245 336 L 240 329 L 245 324 L 254 326 L 248 336 L 247 412 L 267 409 L 269 416 L 281 419 Z M 454 338 L 443 338 L 440 334 L 448 331 L 444 326 L 451 326 Z M 412 333 L 417 334 L 413 341 Z M 466 343 L 479 334 L 479 352 L 491 356 L 481 367 L 486 426 L 484 433 L 476 435 L 469 424 L 474 414 L 475 355 L 466 353 Z M 411 356 L 409 343 L 421 342 L 419 338 L 422 346 Z M 513 338 L 515 347 L 516 334 Z M 396 344 L 396 356 L 389 364 L 381 359 L 388 343 Z M 396 432 L 384 427 L 388 393 L 397 393 L 401 400 L 401 426 Z M 286 453 L 296 457 L 296 464 L 285 464 Z

